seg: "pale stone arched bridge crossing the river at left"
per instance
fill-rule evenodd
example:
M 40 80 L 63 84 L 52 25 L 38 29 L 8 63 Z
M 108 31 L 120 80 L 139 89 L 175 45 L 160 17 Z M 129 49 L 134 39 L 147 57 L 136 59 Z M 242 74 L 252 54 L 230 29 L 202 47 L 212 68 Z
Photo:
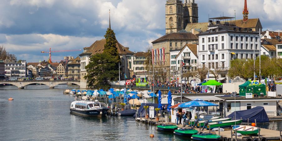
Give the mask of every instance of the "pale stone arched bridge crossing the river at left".
M 72 83 L 80 86 L 80 81 L 70 81 L 70 80 L 58 80 L 58 81 L 0 81 L 0 84 L 11 84 L 14 86 L 17 86 L 20 89 L 24 89 L 24 86 L 30 85 L 30 84 L 44 84 L 49 86 L 51 89 L 54 89 L 56 85 L 64 84 L 64 83 Z

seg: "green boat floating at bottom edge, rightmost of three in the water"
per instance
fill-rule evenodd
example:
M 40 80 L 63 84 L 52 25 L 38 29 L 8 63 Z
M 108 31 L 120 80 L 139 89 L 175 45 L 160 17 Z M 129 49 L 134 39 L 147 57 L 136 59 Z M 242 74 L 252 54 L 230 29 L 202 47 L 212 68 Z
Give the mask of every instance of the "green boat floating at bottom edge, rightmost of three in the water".
M 192 135 L 191 139 L 200 141 L 219 141 L 221 136 L 217 135 L 215 132 L 205 132 L 201 134 Z

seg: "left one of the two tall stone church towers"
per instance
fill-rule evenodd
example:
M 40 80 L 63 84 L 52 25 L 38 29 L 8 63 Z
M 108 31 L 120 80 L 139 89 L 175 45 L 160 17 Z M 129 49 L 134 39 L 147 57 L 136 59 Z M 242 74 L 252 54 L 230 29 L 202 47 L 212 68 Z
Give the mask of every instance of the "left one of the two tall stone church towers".
M 183 3 L 180 0 L 167 0 L 165 4 L 165 34 L 178 32 L 183 27 Z

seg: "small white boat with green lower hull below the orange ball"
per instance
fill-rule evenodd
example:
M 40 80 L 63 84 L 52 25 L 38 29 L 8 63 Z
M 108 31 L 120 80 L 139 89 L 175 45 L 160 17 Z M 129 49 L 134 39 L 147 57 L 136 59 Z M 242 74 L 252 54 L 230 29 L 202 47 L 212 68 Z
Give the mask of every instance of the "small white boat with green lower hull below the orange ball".
M 236 130 L 237 133 L 241 133 L 242 135 L 254 135 L 259 133 L 260 128 L 248 125 L 233 125 L 232 130 L 234 133 Z

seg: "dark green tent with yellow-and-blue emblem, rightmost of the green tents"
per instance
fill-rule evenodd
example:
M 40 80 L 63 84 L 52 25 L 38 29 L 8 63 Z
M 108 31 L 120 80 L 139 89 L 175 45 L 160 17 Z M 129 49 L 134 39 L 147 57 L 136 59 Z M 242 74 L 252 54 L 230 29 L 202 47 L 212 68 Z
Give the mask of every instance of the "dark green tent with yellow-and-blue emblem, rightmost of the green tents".
M 252 88 L 252 91 L 248 91 Z M 246 93 L 253 93 L 258 95 L 264 95 L 266 96 L 266 87 L 264 84 L 259 83 L 258 81 L 253 81 L 251 84 L 249 84 L 246 87 L 247 91 Z

